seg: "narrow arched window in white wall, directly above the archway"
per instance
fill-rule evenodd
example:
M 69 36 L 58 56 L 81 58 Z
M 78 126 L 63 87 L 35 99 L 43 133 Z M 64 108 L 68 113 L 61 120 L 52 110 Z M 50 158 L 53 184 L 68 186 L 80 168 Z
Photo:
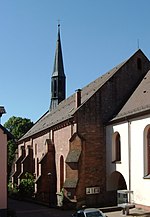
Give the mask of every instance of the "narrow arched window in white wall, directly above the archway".
M 120 134 L 115 132 L 112 138 L 112 162 L 121 161 Z

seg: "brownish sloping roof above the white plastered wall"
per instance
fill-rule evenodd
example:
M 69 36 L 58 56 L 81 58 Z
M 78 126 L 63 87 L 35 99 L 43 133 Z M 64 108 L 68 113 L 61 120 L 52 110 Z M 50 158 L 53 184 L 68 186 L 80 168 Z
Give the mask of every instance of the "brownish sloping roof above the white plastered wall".
M 112 121 L 138 113 L 141 114 L 141 112 L 147 110 L 150 110 L 150 71 L 147 72 L 127 103 Z

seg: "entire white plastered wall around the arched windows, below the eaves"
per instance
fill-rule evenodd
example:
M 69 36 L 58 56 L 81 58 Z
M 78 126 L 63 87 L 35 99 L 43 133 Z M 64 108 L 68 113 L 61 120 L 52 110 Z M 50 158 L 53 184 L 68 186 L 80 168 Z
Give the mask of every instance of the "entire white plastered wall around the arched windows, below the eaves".
M 150 118 L 143 117 L 130 122 L 107 126 L 106 130 L 107 180 L 114 171 L 120 172 L 126 181 L 128 189 L 130 180 L 129 190 L 134 192 L 134 202 L 144 206 L 150 206 L 150 179 L 144 178 L 144 129 L 149 124 Z M 121 138 L 120 164 L 111 161 L 112 133 L 116 131 L 119 132 Z

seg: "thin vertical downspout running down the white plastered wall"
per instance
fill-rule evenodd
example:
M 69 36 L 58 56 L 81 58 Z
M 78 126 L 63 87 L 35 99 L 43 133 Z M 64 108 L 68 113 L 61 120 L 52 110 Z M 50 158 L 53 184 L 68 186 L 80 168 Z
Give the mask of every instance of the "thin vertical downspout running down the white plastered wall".
M 131 122 L 128 121 L 128 172 L 129 172 L 129 191 L 131 190 Z M 129 194 L 129 203 L 131 195 Z

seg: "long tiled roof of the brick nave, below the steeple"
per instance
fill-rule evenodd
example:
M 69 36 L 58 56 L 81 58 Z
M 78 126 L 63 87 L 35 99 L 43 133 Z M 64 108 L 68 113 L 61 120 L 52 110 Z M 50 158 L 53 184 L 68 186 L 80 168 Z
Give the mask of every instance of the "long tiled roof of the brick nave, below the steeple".
M 119 64 L 114 67 L 112 70 L 97 78 L 95 81 L 91 82 L 83 89 L 81 89 L 81 106 L 94 94 L 98 89 L 100 89 L 110 77 L 112 77 L 125 63 Z M 80 107 L 81 107 L 80 106 Z M 79 108 L 80 108 L 79 107 Z M 52 126 L 55 126 L 65 120 L 70 119 L 73 114 L 79 109 L 75 107 L 75 93 L 69 98 L 63 100 L 56 109 L 48 111 L 43 115 L 34 126 L 20 139 L 23 140 L 28 138 L 36 133 L 39 133 L 45 129 L 48 129 Z

